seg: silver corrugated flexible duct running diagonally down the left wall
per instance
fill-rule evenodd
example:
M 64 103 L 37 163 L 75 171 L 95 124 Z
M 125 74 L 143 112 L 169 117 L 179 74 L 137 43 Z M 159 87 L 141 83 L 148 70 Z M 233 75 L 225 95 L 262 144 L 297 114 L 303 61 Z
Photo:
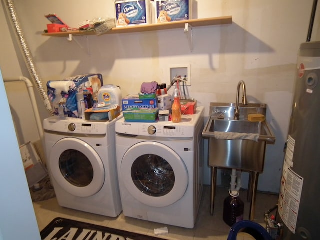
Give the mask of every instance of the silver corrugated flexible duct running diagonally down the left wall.
M 48 112 L 51 115 L 53 115 L 53 109 L 51 107 L 50 100 L 48 98 L 46 91 L 43 89 L 41 79 L 39 78 L 36 67 L 33 63 L 32 54 L 31 54 L 29 47 L 24 39 L 24 35 L 21 30 L 21 27 L 20 27 L 20 24 L 18 21 L 18 17 L 15 12 L 15 7 L 13 4 L 13 1 L 12 0 L 5 0 L 5 2 L 7 5 L 7 12 L 10 16 L 12 26 L 14 27 L 14 30 L 16 33 L 15 35 L 16 35 L 16 38 L 19 42 L 19 47 L 20 47 L 21 52 L 23 54 L 24 61 L 27 65 L 28 71 L 29 71 L 29 73 L 30 73 L 35 85 L 36 85 L 37 91 L 39 92 L 46 109 L 48 110 Z

